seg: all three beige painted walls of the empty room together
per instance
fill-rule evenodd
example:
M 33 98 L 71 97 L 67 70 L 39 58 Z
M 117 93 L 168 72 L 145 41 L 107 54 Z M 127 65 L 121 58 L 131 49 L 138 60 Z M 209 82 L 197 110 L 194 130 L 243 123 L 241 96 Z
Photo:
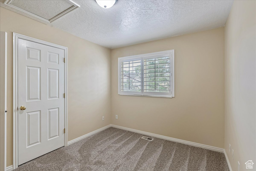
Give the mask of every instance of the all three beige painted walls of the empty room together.
M 69 141 L 111 123 L 220 148 L 225 139 L 233 170 L 237 161 L 240 170 L 256 161 L 255 1 L 234 1 L 225 36 L 221 27 L 112 50 L 0 9 L 0 30 L 8 34 L 7 166 L 12 165 L 12 32 L 68 47 Z M 175 98 L 118 95 L 118 57 L 171 49 Z

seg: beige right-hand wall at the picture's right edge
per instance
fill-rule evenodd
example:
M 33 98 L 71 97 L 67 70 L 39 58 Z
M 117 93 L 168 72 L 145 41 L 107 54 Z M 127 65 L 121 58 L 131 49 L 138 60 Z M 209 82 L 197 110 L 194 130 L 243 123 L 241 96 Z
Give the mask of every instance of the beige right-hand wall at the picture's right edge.
M 255 2 L 234 1 L 225 25 L 225 150 L 233 171 L 238 161 L 240 170 L 248 160 L 256 168 Z

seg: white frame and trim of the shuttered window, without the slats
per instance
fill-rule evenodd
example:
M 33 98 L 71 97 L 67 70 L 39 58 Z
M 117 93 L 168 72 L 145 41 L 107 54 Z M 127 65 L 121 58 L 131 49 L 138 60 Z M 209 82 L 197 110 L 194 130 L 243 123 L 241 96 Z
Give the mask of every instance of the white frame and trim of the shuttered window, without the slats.
M 164 54 L 169 54 L 170 58 L 170 92 L 144 92 L 144 69 L 143 69 L 143 61 L 144 59 L 152 58 L 152 56 L 161 56 Z M 166 55 L 165 55 L 166 56 Z M 121 91 L 121 60 L 124 61 L 132 61 L 135 58 L 141 59 L 141 92 L 122 92 Z M 166 50 L 161 52 L 153 52 L 148 54 L 141 55 L 133 55 L 118 58 L 118 94 L 119 95 L 132 95 L 132 96 L 144 96 L 144 97 L 165 97 L 172 98 L 174 97 L 174 50 Z

